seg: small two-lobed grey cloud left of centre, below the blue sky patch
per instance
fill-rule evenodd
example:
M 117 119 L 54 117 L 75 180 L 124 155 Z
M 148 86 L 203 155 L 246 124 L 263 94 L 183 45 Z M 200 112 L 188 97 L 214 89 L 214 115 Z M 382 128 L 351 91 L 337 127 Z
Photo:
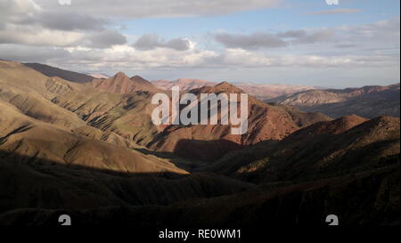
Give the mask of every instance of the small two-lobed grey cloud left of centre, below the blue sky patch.
M 186 51 L 190 47 L 190 42 L 184 38 L 174 38 L 167 42 L 160 39 L 160 36 L 154 34 L 145 34 L 139 37 L 133 45 L 138 50 L 153 50 L 158 47 L 173 49 L 176 51 Z

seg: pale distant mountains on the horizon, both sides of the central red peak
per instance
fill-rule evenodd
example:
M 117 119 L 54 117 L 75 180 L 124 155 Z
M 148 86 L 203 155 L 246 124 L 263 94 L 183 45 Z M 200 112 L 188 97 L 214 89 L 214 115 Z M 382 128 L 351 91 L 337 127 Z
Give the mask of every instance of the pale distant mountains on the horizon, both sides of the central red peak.
M 172 86 L 192 90 L 206 85 L 217 85 L 210 81 L 187 78 L 179 78 L 175 81 L 157 80 L 152 83 L 166 90 L 171 89 Z M 307 112 L 319 112 L 332 118 L 353 114 L 369 118 L 381 115 L 400 116 L 399 84 L 345 89 L 300 85 L 233 84 L 258 100 L 288 105 Z

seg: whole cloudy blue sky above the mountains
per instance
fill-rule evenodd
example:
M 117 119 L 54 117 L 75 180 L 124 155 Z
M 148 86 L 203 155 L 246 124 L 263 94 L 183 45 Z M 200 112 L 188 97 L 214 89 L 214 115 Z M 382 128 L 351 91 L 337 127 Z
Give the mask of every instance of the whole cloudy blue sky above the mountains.
M 147 79 L 400 80 L 399 0 L 0 0 L 0 59 Z

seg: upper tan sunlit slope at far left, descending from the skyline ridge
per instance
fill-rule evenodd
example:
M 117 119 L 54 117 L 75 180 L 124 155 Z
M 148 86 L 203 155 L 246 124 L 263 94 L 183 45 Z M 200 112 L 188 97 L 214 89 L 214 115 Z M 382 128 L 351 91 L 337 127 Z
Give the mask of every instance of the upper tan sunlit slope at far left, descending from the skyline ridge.
M 98 92 L 86 85 L 79 85 L 63 80 L 60 77 L 45 77 L 34 69 L 13 61 L 0 62 L 0 102 L 8 103 L 19 109 L 21 113 L 45 123 L 59 126 L 76 134 L 111 142 L 122 147 L 135 148 L 135 142 L 119 136 L 111 131 L 102 132 L 90 125 L 73 111 L 63 109 L 54 104 L 55 97 L 66 95 L 74 97 L 76 93 L 91 96 Z M 95 94 L 92 96 L 98 98 Z M 112 94 L 105 94 L 105 103 L 112 101 Z M 119 100 L 120 97 L 116 100 Z M 102 100 L 98 101 L 102 103 Z M 99 107 L 94 103 L 94 108 Z M 91 106 L 89 108 L 91 109 Z

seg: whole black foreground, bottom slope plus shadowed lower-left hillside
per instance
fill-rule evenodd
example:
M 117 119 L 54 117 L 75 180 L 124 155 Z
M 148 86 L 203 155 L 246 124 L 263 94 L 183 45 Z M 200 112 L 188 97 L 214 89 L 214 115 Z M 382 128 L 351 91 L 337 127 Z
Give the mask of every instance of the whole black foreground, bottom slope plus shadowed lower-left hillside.
M 236 182 L 237 189 L 225 180 L 196 174 L 181 179 L 149 175 L 118 179 L 85 169 L 39 168 L 41 174 L 21 166 L 4 170 L 2 163 L 0 178 L 9 183 L 1 183 L 1 191 L 9 191 L 8 198 L 20 193 L 20 198 L 26 199 L 19 200 L 20 205 L 2 200 L 2 209 L 15 209 L 3 210 L 0 224 L 53 226 L 60 215 L 68 214 L 75 226 L 322 227 L 327 225 L 326 215 L 336 214 L 343 226 L 399 225 L 400 165 L 397 158 L 388 163 L 313 182 L 274 182 L 257 187 Z M 71 177 L 74 175 L 77 177 Z M 53 176 L 57 176 L 57 183 L 53 183 Z M 13 183 L 29 186 L 12 190 Z M 221 193 L 227 193 L 226 186 L 231 190 L 224 196 Z M 35 193 L 23 193 L 26 189 Z M 29 202 L 28 198 L 27 207 L 22 203 Z

